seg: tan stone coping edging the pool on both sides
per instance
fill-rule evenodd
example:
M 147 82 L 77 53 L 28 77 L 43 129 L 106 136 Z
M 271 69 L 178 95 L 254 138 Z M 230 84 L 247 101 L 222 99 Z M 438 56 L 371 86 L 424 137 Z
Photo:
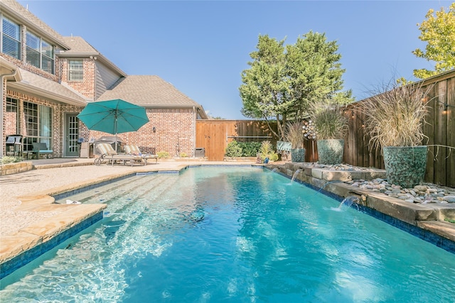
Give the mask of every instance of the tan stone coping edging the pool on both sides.
M 77 191 L 84 187 L 95 186 L 103 182 L 110 182 L 124 177 L 140 173 L 154 173 L 154 172 L 181 172 L 191 166 L 202 165 L 239 165 L 238 163 L 182 163 L 173 165 L 173 167 L 137 167 L 134 170 L 127 172 L 116 173 L 112 175 L 105 175 L 97 179 L 87 180 L 83 182 L 75 182 L 73 184 L 46 189 L 42 192 L 36 192 L 33 195 L 26 195 L 17 197 L 21 200 L 21 205 L 18 206 L 23 211 L 53 211 L 58 210 L 58 214 L 50 218 L 37 221 L 34 224 L 21 228 L 17 233 L 2 236 L 0 246 L 0 265 L 2 270 L 6 263 L 11 260 L 21 259 L 24 252 L 34 250 L 38 246 L 49 246 L 51 240 L 61 238 L 61 235 L 73 228 L 86 228 L 88 226 L 80 227 L 85 221 L 90 221 L 98 215 L 100 219 L 102 211 L 107 207 L 105 204 L 55 204 L 53 197 L 65 194 L 66 192 Z M 323 189 L 325 192 L 336 194 L 339 197 L 348 197 L 357 195 L 360 197 L 360 205 L 370 209 L 375 209 L 382 214 L 392 218 L 403 221 L 412 226 L 418 226 L 424 231 L 434 233 L 445 239 L 455 243 L 455 224 L 451 224 L 444 220 L 444 218 L 455 218 L 455 204 L 412 204 L 405 202 L 401 199 L 388 197 L 385 194 L 373 192 L 368 189 L 359 189 L 349 184 L 343 183 L 356 179 L 374 179 L 378 177 L 385 177 L 385 171 L 376 169 L 358 169 L 358 170 L 330 170 L 327 168 L 314 167 L 312 165 L 305 165 L 304 163 L 291 163 L 284 164 L 272 163 L 269 165 L 255 165 L 253 163 L 245 163 L 251 166 L 264 166 L 269 170 L 278 170 L 282 175 L 288 177 L 296 177 L 297 180 L 309 184 L 313 187 Z M 299 172 L 296 173 L 296 171 Z M 91 224 L 95 223 L 93 221 Z M 91 225 L 90 224 L 90 225 Z M 83 229 L 82 228 L 82 229 Z M 78 231 L 77 231 L 78 232 Z M 60 236 L 60 237 L 59 237 Z M 70 236 L 73 236 L 71 234 Z M 68 236 L 69 238 L 69 236 Z M 62 241 L 64 241 L 63 238 Z M 55 243 L 56 246 L 58 243 Z M 441 246 L 439 246 L 441 247 Z M 453 244 L 455 251 L 455 244 Z M 51 249 L 52 247 L 48 248 Z M 45 251 L 44 251 L 45 252 Z M 33 254 L 33 253 L 32 253 Z M 36 255 L 36 253 L 34 253 Z M 24 257 L 27 258 L 27 257 Z M 22 258 L 23 259 L 23 258 Z M 22 261 L 21 261 L 22 262 Z M 9 267 L 10 265 L 6 265 Z

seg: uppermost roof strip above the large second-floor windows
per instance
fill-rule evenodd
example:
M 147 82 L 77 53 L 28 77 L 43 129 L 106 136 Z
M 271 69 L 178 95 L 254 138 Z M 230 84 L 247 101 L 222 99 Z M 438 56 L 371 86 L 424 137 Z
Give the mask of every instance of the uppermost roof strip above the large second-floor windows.
M 8 14 L 16 20 L 18 23 L 25 24 L 31 31 L 43 35 L 44 38 L 51 40 L 53 43 L 60 45 L 63 48 L 68 48 L 63 37 L 53 30 L 46 23 L 41 21 L 40 18 L 33 15 L 28 9 L 21 6 L 15 0 L 1 0 L 0 1 L 1 11 L 6 11 Z M 8 16 L 9 17 L 9 16 Z

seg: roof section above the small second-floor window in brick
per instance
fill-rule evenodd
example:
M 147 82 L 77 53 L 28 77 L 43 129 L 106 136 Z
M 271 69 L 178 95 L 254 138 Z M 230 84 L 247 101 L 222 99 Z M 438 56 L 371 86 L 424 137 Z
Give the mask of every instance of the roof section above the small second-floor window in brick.
M 121 77 L 127 74 L 120 70 L 117 65 L 114 65 L 110 60 L 102 55 L 96 48 L 88 43 L 84 38 L 78 36 L 63 37 L 65 43 L 69 45 L 69 50 L 60 50 L 55 55 L 59 57 L 95 57 L 98 62 L 102 62 L 111 70 L 117 72 Z

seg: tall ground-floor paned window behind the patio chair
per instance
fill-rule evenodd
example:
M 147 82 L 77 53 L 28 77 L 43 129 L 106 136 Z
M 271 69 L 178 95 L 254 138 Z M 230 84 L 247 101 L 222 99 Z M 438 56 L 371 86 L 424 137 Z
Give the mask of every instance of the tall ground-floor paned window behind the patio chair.
M 33 150 L 33 142 L 42 142 L 52 148 L 52 109 L 49 106 L 23 102 L 26 136 L 24 150 Z

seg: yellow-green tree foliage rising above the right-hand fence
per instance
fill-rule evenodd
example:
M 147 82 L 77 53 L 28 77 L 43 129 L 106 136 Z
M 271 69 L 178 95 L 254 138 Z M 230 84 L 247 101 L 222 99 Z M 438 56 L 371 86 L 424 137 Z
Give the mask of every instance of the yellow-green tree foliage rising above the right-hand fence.
M 422 32 L 419 39 L 427 42 L 425 50 L 417 48 L 412 53 L 417 57 L 435 61 L 434 71 L 414 70 L 414 76 L 425 79 L 455 67 L 455 2 L 449 11 L 444 8 L 434 12 L 430 9 L 422 23 L 417 24 Z

